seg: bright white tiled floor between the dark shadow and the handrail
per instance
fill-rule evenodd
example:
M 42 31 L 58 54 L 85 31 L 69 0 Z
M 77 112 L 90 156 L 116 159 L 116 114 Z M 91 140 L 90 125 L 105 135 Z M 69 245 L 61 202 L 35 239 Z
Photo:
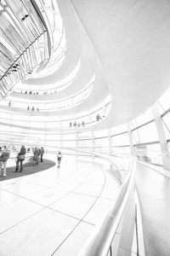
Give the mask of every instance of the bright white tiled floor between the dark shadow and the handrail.
M 60 169 L 1 181 L 0 255 L 77 255 L 119 187 L 105 162 L 71 156 Z

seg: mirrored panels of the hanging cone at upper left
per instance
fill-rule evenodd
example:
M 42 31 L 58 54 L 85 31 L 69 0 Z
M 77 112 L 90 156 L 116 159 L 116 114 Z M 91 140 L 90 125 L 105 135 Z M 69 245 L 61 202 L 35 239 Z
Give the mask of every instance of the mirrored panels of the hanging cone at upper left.
M 34 1 L 0 2 L 0 100 L 47 62 L 48 29 Z

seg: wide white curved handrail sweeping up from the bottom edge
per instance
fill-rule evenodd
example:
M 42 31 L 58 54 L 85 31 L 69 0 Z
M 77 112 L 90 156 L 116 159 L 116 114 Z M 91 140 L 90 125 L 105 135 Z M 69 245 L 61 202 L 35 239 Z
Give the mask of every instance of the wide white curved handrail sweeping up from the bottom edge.
M 94 230 L 92 236 L 82 247 L 78 256 L 105 256 L 109 252 L 111 242 L 116 236 L 116 230 L 121 221 L 122 214 L 127 205 L 127 200 L 134 185 L 135 161 L 133 160 L 127 173 L 127 177 L 122 184 L 122 188 L 117 195 L 116 204 L 111 206 L 104 221 Z

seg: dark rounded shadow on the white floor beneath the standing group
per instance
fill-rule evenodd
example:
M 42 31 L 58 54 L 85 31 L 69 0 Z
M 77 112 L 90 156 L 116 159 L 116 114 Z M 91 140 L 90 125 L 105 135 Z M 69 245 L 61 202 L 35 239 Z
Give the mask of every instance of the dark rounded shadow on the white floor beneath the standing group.
M 21 177 L 25 175 L 30 175 L 32 173 L 36 172 L 42 172 L 45 171 L 53 166 L 55 166 L 56 163 L 52 160 L 43 160 L 43 162 L 39 163 L 38 166 L 32 166 L 32 163 L 26 163 L 23 165 L 23 171 L 22 172 L 14 172 L 15 166 L 11 166 L 7 168 L 7 177 L 1 177 L 0 181 L 7 180 L 14 177 Z

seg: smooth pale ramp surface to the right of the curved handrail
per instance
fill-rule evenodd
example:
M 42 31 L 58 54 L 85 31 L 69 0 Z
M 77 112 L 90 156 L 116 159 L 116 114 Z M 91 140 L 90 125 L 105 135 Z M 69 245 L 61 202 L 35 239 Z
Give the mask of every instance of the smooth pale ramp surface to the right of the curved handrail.
M 149 166 L 137 164 L 144 248 L 147 256 L 170 255 L 170 179 Z

